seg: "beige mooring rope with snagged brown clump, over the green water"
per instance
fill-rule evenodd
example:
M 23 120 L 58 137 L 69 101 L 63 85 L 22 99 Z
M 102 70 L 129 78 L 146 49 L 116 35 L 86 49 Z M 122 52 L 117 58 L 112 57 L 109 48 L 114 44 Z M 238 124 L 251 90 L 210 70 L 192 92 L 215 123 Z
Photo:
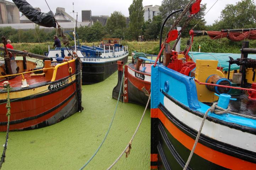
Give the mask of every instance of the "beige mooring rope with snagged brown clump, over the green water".
M 142 117 L 141 117 L 141 119 L 140 119 L 140 122 L 139 122 L 139 124 L 138 124 L 138 126 L 137 126 L 137 129 L 135 130 L 135 132 L 134 132 L 134 134 L 133 134 L 133 136 L 132 136 L 130 142 L 128 143 L 128 145 L 126 146 L 126 148 L 124 148 L 124 150 L 123 150 L 123 152 L 121 153 L 121 155 L 119 155 L 119 157 L 115 160 L 115 162 L 113 162 L 112 165 L 110 165 L 110 167 L 108 167 L 107 170 L 110 170 L 110 169 L 119 161 L 119 159 L 123 156 L 124 153 L 126 153 L 126 157 L 128 156 L 128 155 L 127 155 L 127 152 L 128 152 L 128 154 L 130 153 L 130 149 L 132 148 L 132 147 L 131 147 L 132 141 L 133 141 L 135 135 L 137 134 L 137 131 L 139 130 L 139 127 L 140 127 L 140 125 L 141 125 L 141 122 L 142 122 L 142 120 L 143 120 L 143 118 L 144 118 L 144 115 L 145 115 L 146 110 L 147 110 L 148 105 L 149 105 L 150 96 L 151 96 L 151 94 L 149 95 L 149 100 L 148 100 L 148 103 L 147 103 L 147 105 L 146 105 L 146 107 L 145 107 L 144 113 L 143 113 L 143 115 L 142 115 Z

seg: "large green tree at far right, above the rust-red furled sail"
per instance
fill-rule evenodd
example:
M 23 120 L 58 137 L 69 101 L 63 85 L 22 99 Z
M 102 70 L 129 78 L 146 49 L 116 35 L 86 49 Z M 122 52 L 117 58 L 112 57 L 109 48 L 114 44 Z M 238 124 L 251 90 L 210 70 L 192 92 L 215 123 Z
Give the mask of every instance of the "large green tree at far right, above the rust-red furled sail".
M 245 28 L 245 26 L 255 25 L 256 5 L 252 0 L 242 0 L 236 5 L 228 4 L 221 11 L 220 21 L 216 22 L 221 29 Z

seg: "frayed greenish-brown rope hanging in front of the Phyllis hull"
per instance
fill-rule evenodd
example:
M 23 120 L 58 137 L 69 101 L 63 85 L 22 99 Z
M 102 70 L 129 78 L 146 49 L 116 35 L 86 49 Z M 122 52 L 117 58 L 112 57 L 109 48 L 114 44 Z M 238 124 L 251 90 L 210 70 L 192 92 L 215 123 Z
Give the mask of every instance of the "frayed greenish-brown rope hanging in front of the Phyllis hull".
M 8 142 L 8 138 L 9 138 L 9 128 L 10 128 L 10 115 L 11 115 L 11 104 L 10 104 L 10 85 L 7 85 L 7 103 L 6 103 L 6 109 L 7 109 L 7 113 L 6 116 L 8 118 L 8 122 L 7 122 L 7 131 L 6 131 L 6 138 L 5 138 L 5 146 L 4 146 L 4 150 L 2 153 L 2 157 L 1 157 L 1 161 L 0 161 L 0 169 L 2 168 L 2 164 L 5 162 L 5 152 L 7 149 L 7 142 Z

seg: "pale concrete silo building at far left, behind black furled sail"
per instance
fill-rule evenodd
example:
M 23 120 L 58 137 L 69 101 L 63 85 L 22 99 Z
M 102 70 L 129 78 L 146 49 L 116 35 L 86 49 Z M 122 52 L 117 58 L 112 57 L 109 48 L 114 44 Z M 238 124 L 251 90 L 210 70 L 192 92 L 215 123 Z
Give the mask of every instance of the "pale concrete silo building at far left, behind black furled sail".
M 19 9 L 12 2 L 0 0 L 0 24 L 14 23 L 20 23 Z

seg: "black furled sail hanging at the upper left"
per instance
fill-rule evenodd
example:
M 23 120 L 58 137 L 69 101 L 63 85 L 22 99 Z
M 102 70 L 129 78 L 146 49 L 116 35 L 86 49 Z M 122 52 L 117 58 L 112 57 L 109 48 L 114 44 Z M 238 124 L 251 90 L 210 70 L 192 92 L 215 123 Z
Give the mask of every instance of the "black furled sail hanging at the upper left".
M 26 0 L 12 0 L 30 21 L 43 27 L 56 28 L 54 14 L 49 11 L 48 13 L 40 12 L 33 8 Z

